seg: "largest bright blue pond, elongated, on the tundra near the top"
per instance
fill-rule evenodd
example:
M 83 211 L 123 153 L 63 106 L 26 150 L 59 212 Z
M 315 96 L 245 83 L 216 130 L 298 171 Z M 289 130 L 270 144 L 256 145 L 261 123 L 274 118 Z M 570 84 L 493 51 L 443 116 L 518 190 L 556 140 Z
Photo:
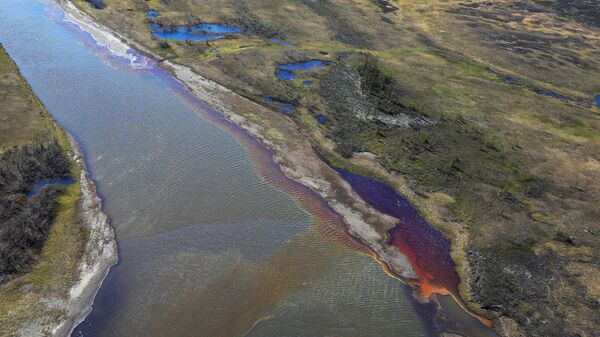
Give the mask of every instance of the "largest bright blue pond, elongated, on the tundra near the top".
M 192 27 L 164 28 L 158 24 L 151 24 L 152 36 L 169 40 L 195 40 L 206 41 L 224 38 L 221 34 L 237 34 L 244 30 L 237 27 L 217 23 L 203 23 Z

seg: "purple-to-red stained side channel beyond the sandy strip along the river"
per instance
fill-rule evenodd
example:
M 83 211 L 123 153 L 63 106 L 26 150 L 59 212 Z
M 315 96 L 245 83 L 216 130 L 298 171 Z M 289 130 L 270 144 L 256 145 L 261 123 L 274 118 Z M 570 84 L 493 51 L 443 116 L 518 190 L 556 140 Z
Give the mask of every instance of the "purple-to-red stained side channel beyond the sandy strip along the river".
M 497 335 L 491 328 L 487 328 L 491 326 L 489 320 L 471 313 L 460 301 L 460 278 L 450 257 L 450 241 L 439 230 L 429 225 L 417 210 L 390 186 L 346 170 L 337 169 L 337 172 L 367 203 L 378 211 L 398 219 L 396 226 L 388 231 L 389 243 L 407 257 L 414 274 L 418 277 L 404 281 L 415 287 L 423 298 L 432 299 L 443 307 L 442 309 L 447 309 L 448 319 L 458 319 L 456 311 L 460 309 L 483 325 L 464 328 L 465 324 L 469 324 L 454 322 L 463 325 L 462 334 Z M 396 275 L 393 271 L 388 272 Z M 454 301 L 448 301 L 448 298 L 453 298 Z

